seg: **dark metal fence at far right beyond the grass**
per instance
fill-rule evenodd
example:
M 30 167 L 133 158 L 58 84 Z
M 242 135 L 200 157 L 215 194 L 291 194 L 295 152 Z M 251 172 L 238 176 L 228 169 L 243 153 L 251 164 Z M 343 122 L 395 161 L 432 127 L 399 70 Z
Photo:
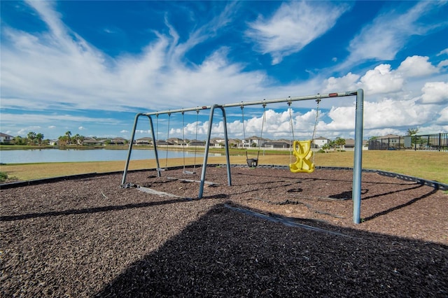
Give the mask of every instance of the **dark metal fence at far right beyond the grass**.
M 448 133 L 374 139 L 369 141 L 369 150 L 426 150 L 448 152 Z

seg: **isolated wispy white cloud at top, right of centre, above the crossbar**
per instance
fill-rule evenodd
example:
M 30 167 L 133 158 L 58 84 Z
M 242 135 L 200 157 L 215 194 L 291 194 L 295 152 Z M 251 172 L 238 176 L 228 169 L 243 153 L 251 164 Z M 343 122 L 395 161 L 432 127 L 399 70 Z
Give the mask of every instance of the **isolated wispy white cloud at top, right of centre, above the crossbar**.
M 258 17 L 248 24 L 246 36 L 257 44 L 255 50 L 272 56 L 272 64 L 299 52 L 331 29 L 349 6 L 328 2 L 293 1 L 282 3 L 269 20 Z

